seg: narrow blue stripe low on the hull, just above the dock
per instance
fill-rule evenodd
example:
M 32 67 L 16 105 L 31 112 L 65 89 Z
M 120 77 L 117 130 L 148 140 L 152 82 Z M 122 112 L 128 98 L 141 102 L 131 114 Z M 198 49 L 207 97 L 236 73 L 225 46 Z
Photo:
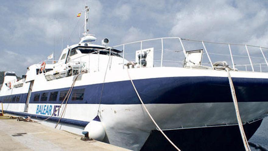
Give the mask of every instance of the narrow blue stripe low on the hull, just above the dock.
M 2 112 L 2 110 L 0 110 L 0 111 Z M 15 114 L 15 115 L 24 116 L 24 117 L 29 116 L 29 117 L 38 118 L 38 119 L 48 118 L 48 116 L 29 114 L 29 113 L 25 113 L 25 112 L 14 112 L 14 111 L 4 110 L 4 113 Z M 58 120 L 59 120 L 58 117 L 51 117 L 48 119 L 48 121 L 53 121 L 53 122 L 58 122 Z M 72 119 L 62 118 L 60 123 L 85 127 L 89 122 L 82 121 L 82 120 L 72 120 Z

